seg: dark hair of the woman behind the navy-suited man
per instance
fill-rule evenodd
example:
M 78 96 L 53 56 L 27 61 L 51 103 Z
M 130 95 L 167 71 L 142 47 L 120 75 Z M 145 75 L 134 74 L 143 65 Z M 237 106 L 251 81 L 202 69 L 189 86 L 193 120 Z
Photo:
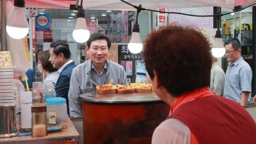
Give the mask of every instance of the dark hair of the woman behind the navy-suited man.
M 41 62 L 42 68 L 45 71 L 55 72 L 55 71 L 58 70 L 58 68 L 54 68 L 51 64 L 51 61 L 49 61 L 49 58 L 50 58 L 50 51 L 49 50 L 38 52 L 37 57 L 38 57 L 38 60 Z

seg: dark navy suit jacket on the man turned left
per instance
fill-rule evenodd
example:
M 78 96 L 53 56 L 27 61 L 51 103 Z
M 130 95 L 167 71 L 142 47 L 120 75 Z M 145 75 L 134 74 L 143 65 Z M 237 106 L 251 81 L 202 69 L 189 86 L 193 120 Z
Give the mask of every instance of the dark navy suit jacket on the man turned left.
M 70 84 L 70 77 L 74 67 L 76 67 L 76 64 L 72 62 L 72 63 L 69 63 L 65 68 L 63 68 L 55 86 L 56 97 L 63 97 L 67 101 L 68 116 L 69 116 L 68 90 L 69 90 L 69 84 Z

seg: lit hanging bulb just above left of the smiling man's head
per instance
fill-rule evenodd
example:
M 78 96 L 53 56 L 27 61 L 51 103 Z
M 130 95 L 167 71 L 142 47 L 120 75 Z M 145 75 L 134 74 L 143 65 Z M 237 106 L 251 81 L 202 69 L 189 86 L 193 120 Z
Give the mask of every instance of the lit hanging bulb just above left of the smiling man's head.
M 90 37 L 90 31 L 88 31 L 84 16 L 83 8 L 78 8 L 76 27 L 72 33 L 74 40 L 76 40 L 78 43 L 84 43 Z

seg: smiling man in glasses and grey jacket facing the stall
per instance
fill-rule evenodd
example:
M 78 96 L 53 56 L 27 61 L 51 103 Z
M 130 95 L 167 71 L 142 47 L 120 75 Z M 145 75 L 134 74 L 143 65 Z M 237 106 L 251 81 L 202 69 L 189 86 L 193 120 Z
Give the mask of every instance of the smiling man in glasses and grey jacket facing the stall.
M 83 93 L 96 93 L 96 86 L 102 84 L 127 84 L 124 67 L 108 60 L 111 41 L 102 33 L 93 33 L 86 44 L 90 60 L 74 68 L 70 81 L 68 99 L 70 116 L 81 117 L 82 106 L 78 96 Z

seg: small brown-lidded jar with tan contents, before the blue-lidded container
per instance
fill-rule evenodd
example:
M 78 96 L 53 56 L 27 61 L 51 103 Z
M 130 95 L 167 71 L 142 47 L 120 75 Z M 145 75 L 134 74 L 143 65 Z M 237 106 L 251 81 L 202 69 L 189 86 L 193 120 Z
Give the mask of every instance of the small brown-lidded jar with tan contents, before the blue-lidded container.
M 32 136 L 47 136 L 46 106 L 32 106 Z

